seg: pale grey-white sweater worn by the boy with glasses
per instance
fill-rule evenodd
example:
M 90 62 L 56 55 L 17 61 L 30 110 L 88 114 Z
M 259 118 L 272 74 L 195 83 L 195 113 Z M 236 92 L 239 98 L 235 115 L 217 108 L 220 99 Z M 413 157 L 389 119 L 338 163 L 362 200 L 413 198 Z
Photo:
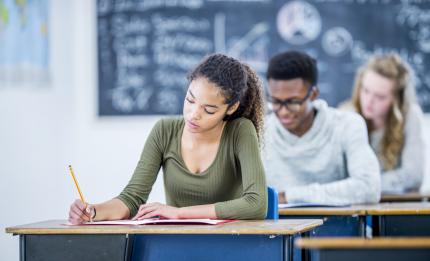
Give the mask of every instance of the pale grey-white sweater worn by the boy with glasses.
M 275 114 L 266 121 L 263 161 L 267 183 L 287 201 L 321 204 L 378 202 L 381 179 L 364 120 L 322 100 L 312 127 L 298 137 Z

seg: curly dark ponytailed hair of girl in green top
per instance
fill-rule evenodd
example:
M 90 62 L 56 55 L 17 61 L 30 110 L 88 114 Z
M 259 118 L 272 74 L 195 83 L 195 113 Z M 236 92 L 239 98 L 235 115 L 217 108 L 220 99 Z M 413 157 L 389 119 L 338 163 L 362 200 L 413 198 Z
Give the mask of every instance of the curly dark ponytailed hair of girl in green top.
M 244 117 L 252 121 L 261 142 L 264 124 L 263 87 L 257 74 L 248 65 L 223 54 L 212 54 L 188 75 L 191 82 L 205 77 L 215 83 L 225 98 L 228 108 L 240 102 L 239 108 L 224 120 Z

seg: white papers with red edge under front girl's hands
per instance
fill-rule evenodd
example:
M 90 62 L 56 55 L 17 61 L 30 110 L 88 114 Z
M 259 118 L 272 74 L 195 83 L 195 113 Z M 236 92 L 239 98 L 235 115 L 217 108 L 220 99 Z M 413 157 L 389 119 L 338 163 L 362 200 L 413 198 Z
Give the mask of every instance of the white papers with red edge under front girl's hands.
M 234 220 L 220 220 L 220 219 L 142 219 L 142 220 L 108 220 L 108 221 L 95 221 L 87 222 L 85 225 L 157 225 L 157 224 L 201 224 L 201 225 L 218 225 L 223 223 L 232 222 Z M 71 224 L 67 224 L 71 225 Z

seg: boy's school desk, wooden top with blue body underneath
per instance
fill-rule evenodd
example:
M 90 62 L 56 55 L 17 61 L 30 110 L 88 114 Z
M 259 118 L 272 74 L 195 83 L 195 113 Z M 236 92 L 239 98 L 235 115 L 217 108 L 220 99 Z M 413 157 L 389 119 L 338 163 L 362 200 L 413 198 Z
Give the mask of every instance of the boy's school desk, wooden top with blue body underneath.
M 312 236 L 365 236 L 365 206 L 350 207 L 301 207 L 279 209 L 281 219 L 322 219 Z

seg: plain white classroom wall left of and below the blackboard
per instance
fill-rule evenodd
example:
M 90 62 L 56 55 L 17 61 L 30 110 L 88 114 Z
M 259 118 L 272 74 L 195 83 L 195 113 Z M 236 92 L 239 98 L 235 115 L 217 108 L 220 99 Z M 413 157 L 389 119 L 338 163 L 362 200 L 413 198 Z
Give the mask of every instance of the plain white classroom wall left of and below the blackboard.
M 67 218 L 78 196 L 68 164 L 89 202 L 116 196 L 158 119 L 97 117 L 95 1 L 56 0 L 51 5 L 51 84 L 0 88 L 2 231 Z M 426 129 L 430 133 L 430 115 Z M 430 188 L 430 179 L 426 182 Z M 150 200 L 164 201 L 161 179 Z M 0 233 L 0 260 L 18 260 L 17 237 Z

